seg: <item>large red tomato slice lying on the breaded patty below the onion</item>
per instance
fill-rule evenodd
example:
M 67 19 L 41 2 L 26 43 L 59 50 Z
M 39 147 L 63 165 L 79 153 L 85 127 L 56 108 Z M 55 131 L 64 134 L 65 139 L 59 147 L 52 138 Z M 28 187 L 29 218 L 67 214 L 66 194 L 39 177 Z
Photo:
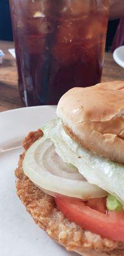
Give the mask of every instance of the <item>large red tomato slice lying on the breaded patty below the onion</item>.
M 108 211 L 107 214 L 91 209 L 74 198 L 55 198 L 58 209 L 68 220 L 112 241 L 124 241 L 124 211 Z

